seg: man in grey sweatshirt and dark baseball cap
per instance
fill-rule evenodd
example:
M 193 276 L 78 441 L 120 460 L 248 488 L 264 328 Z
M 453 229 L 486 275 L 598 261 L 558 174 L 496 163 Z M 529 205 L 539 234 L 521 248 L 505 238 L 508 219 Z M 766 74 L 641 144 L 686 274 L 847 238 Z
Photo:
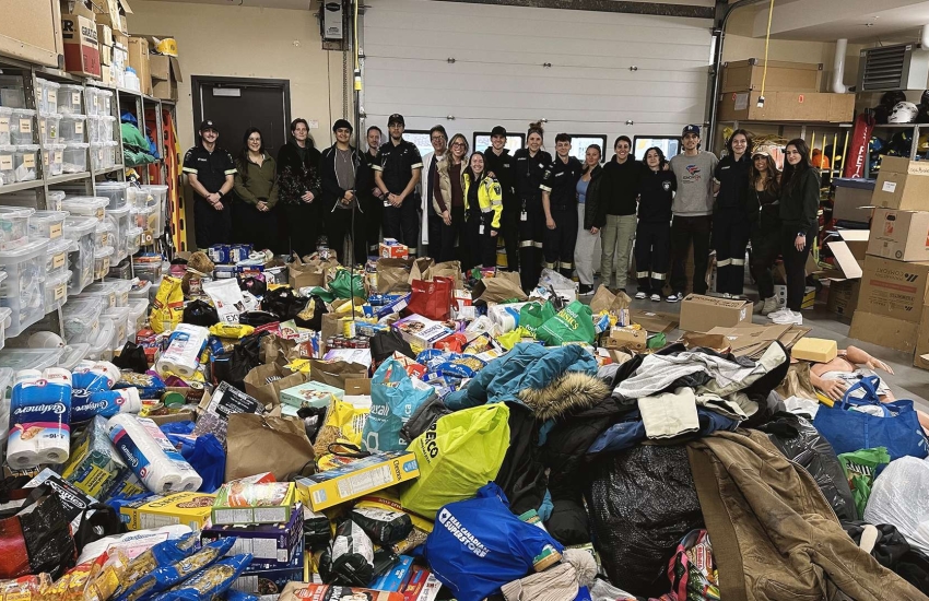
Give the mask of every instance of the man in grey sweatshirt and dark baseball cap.
M 706 294 L 706 266 L 709 262 L 709 236 L 713 229 L 713 177 L 719 161 L 712 152 L 699 150 L 699 126 L 686 126 L 681 132 L 684 152 L 671 158 L 678 191 L 671 205 L 671 295 L 669 303 L 684 297 L 687 278 L 684 264 L 691 244 L 694 247 L 694 292 Z

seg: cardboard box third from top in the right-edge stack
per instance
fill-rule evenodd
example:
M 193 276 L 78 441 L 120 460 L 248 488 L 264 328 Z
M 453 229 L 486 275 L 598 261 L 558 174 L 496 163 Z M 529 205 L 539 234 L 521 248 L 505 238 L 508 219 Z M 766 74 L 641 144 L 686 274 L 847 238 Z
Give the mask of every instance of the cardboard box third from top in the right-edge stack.
M 869 255 L 865 260 L 858 313 L 918 323 L 929 286 L 929 262 L 907 263 Z

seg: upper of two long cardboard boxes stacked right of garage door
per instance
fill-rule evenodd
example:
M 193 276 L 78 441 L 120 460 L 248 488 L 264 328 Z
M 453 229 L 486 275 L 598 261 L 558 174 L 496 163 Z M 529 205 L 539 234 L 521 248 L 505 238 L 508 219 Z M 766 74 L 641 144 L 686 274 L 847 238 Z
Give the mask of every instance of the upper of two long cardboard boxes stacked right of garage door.
M 765 94 L 771 92 L 819 92 L 822 89 L 823 64 L 810 62 L 767 61 L 750 58 L 727 62 L 722 66 L 721 91 L 743 92 L 762 89 L 764 79 Z

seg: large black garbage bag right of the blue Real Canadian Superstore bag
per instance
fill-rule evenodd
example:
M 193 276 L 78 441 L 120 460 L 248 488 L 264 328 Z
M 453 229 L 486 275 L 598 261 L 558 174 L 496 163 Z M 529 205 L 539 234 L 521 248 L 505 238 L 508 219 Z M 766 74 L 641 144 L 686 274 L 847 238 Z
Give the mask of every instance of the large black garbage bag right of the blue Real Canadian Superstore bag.
M 633 594 L 671 589 L 668 563 L 705 528 L 683 445 L 638 445 L 598 459 L 586 492 L 593 545 L 610 581 Z

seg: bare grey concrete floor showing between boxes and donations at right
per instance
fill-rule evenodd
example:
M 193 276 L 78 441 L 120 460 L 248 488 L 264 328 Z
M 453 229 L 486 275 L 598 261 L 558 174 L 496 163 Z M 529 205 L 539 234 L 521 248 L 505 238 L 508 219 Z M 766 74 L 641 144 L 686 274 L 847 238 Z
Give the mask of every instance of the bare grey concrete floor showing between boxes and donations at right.
M 630 296 L 634 294 L 635 290 L 633 287 L 631 288 Z M 757 296 L 757 294 L 749 291 L 746 291 L 746 294 L 750 298 Z M 587 296 L 584 298 L 589 299 L 591 297 Z M 632 308 L 680 314 L 681 304 L 666 303 L 665 300 L 652 303 L 651 300 L 636 300 L 633 298 Z M 812 328 L 812 331 L 808 335 L 835 340 L 839 349 L 845 349 L 849 344 L 854 344 L 871 353 L 872 356 L 880 358 L 894 370 L 894 375 L 892 376 L 879 373 L 891 387 L 894 396 L 897 399 L 912 399 L 920 409 L 929 412 L 929 372 L 914 367 L 912 355 L 848 338 L 848 329 L 851 320 L 826 311 L 822 305 L 802 313 L 803 326 Z M 755 323 L 771 323 L 766 317 L 762 317 L 761 315 L 755 315 L 753 321 Z M 680 330 L 674 330 L 669 334 L 668 340 L 677 340 L 680 334 Z

